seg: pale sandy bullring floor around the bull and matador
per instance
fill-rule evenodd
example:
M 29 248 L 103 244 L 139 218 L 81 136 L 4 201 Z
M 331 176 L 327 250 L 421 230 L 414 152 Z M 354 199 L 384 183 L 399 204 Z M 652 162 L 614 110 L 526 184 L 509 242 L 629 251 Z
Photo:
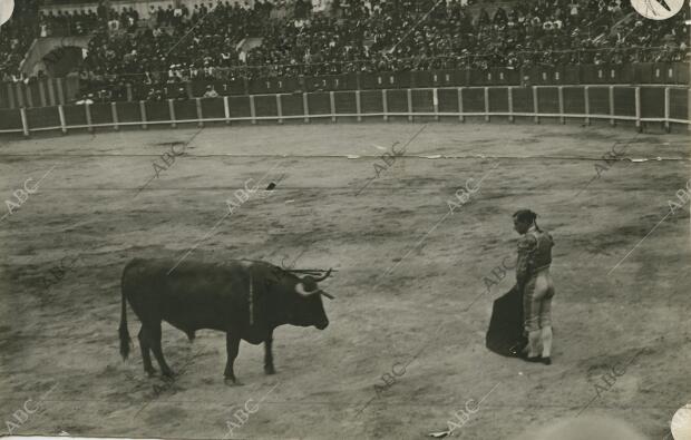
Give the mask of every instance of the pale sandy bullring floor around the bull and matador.
M 0 199 L 55 166 L 0 223 L 3 423 L 52 388 L 14 433 L 222 438 L 236 409 L 264 399 L 233 438 L 422 439 L 484 398 L 454 437 L 506 439 L 585 408 L 662 439 L 691 399 L 689 204 L 668 215 L 690 176 L 689 137 L 432 123 L 357 194 L 374 164 L 386 167 L 378 156 L 421 128 L 233 126 L 0 143 Z M 189 139 L 153 178 L 169 143 Z M 633 141 L 625 156 L 636 160 L 595 178 L 617 140 Z M 214 229 L 225 201 L 267 173 L 265 183 L 285 178 Z M 481 177 L 450 214 L 455 190 Z M 552 366 L 484 348 L 492 301 L 514 273 L 488 293 L 484 277 L 514 258 L 510 216 L 520 207 L 536 211 L 556 242 Z M 230 388 L 222 333 L 198 332 L 189 344 L 164 324 L 164 352 L 181 374 L 171 385 L 146 378 L 132 309 L 133 355 L 118 353 L 121 270 L 135 256 L 179 258 L 195 245 L 188 258 L 337 268 L 324 282 L 335 296 L 324 304 L 330 326 L 278 329 L 276 375 L 264 375 L 262 346 L 241 344 L 244 387 Z M 64 257 L 74 266 L 45 287 Z M 632 359 L 613 384 L 602 382 Z

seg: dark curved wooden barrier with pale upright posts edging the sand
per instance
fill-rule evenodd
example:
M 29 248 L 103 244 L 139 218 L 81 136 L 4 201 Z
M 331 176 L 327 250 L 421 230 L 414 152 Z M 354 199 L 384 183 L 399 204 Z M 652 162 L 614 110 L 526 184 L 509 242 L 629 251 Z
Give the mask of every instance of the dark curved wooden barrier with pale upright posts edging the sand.
M 408 120 L 528 118 L 584 124 L 627 121 L 638 129 L 656 123 L 670 130 L 691 124 L 690 90 L 684 86 L 485 86 L 373 89 L 224 96 L 164 101 L 56 105 L 1 109 L 0 133 L 68 133 L 72 129 L 176 127 L 179 124 L 339 119 Z

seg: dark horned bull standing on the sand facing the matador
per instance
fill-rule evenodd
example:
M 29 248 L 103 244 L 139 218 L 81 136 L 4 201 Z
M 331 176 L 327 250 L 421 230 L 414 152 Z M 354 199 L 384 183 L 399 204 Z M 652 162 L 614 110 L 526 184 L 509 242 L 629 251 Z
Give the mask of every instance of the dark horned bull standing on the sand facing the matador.
M 322 276 L 295 275 L 261 261 L 228 261 L 225 263 L 185 262 L 175 271 L 173 261 L 130 261 L 123 271 L 120 312 L 120 354 L 129 355 L 132 340 L 127 330 L 127 302 L 139 319 L 138 339 L 144 371 L 150 377 L 150 352 L 166 378 L 174 372 L 166 363 L 160 348 L 160 323 L 166 321 L 194 340 L 195 332 L 212 329 L 225 332 L 227 360 L 225 383 L 240 384 L 233 363 L 240 341 L 264 343 L 264 372 L 274 374 L 273 331 L 283 324 L 329 325 L 321 296 L 332 299 L 318 283 Z

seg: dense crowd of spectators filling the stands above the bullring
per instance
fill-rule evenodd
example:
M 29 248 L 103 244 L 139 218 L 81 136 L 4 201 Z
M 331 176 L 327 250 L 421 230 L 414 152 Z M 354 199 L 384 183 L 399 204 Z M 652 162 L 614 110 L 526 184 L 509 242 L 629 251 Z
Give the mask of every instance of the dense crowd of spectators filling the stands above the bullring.
M 36 0 L 26 4 L 36 9 Z M 14 38 L 1 30 L 0 57 L 10 56 L 0 76 L 16 74 L 31 32 L 88 33 L 84 84 L 117 95 L 130 82 L 149 99 L 198 78 L 681 61 L 689 39 L 687 8 L 656 21 L 629 0 L 332 0 L 320 11 L 310 0 L 206 0 L 150 7 L 147 17 L 101 1 L 96 10 L 17 16 Z M 239 46 L 251 37 L 257 46 Z

